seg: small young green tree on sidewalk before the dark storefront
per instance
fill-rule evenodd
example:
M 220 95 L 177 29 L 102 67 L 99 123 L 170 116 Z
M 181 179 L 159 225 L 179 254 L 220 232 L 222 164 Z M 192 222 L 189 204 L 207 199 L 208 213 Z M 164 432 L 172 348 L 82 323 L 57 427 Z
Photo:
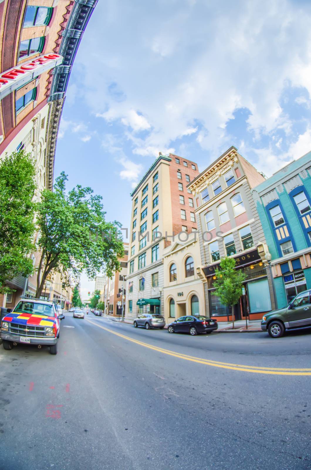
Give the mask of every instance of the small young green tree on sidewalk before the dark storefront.
M 212 292 L 213 295 L 217 295 L 220 302 L 223 305 L 231 306 L 232 314 L 232 327 L 234 328 L 234 315 L 233 307 L 238 303 L 242 295 L 243 281 L 245 279 L 244 274 L 235 268 L 234 258 L 222 258 L 220 261 L 219 269 L 215 271 L 216 280 L 213 286 L 216 288 Z

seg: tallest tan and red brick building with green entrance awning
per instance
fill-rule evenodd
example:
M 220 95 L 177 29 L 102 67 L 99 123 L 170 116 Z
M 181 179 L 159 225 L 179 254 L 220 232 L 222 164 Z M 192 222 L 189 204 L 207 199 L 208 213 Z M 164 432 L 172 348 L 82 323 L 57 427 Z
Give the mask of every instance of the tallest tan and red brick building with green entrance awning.
M 196 163 L 160 153 L 131 194 L 127 318 L 148 311 L 164 313 L 163 250 L 180 232 L 197 228 L 194 199 L 187 189 L 197 175 Z

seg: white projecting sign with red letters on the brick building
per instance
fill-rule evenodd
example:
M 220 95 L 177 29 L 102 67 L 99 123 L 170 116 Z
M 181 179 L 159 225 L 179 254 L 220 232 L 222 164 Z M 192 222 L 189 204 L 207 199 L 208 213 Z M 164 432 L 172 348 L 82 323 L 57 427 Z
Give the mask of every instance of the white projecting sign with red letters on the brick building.
M 0 100 L 63 61 L 62 55 L 45 54 L 0 74 Z

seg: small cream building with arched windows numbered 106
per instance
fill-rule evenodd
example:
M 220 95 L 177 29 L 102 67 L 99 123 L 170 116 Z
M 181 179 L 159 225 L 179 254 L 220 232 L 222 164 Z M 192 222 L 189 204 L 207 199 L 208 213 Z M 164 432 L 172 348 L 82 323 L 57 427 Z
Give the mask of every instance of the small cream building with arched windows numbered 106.
M 182 234 L 163 251 L 163 305 L 166 323 L 184 315 L 205 315 L 204 282 L 198 234 Z

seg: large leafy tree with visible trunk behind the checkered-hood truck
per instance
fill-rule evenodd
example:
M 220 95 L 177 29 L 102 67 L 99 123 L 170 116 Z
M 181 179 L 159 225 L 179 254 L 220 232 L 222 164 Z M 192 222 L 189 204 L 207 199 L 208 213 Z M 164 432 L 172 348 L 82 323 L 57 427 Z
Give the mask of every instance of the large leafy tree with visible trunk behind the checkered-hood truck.
M 38 266 L 36 297 L 52 269 L 79 277 L 86 270 L 89 279 L 96 273 L 112 276 L 120 269 L 124 254 L 121 224 L 106 222 L 102 197 L 91 188 L 77 185 L 66 194 L 67 175 L 56 178 L 54 192 L 45 189 L 38 204 L 37 223 L 42 250 Z

